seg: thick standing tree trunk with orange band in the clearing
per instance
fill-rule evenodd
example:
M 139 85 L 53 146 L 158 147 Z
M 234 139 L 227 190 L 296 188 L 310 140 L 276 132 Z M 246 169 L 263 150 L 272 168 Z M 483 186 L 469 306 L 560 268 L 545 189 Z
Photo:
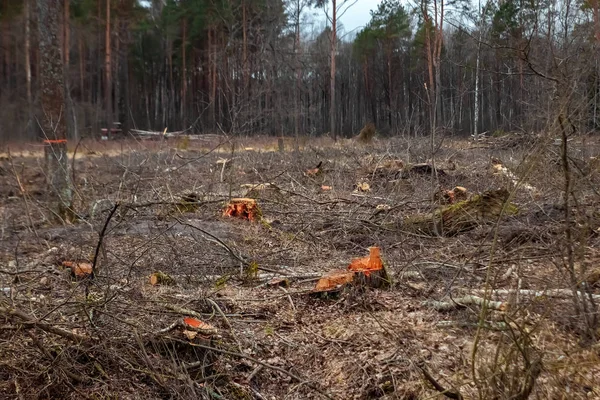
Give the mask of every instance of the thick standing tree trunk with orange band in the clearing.
M 73 192 L 67 158 L 64 71 L 59 39 L 62 2 L 61 0 L 37 0 L 37 7 L 46 179 L 55 216 L 62 220 L 71 220 Z

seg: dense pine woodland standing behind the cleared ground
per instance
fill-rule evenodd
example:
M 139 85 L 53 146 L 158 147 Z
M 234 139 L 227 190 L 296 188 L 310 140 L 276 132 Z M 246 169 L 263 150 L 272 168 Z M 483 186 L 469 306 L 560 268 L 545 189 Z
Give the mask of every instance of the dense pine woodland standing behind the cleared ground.
M 598 1 L 62 0 L 70 137 L 539 131 L 598 120 Z M 0 2 L 2 139 L 39 136 L 36 2 Z M 332 29 L 333 27 L 333 29 Z M 332 32 L 335 34 L 332 35 Z M 332 59 L 331 55 L 335 57 Z

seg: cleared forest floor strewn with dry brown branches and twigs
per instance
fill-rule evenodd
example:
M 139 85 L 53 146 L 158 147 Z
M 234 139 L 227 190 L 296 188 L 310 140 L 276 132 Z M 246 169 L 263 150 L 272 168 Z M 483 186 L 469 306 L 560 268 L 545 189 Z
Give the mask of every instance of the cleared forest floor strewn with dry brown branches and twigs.
M 582 333 L 597 310 L 577 315 L 572 295 L 550 291 L 572 288 L 570 245 L 600 295 L 600 142 L 569 142 L 570 242 L 561 147 L 542 142 L 446 139 L 437 180 L 403 172 L 430 162 L 428 139 L 315 139 L 283 152 L 271 138 L 82 142 L 71 171 L 80 220 L 69 224 L 46 207 L 41 147 L 0 149 L 0 397 L 600 398 L 600 346 Z M 439 206 L 440 188 L 517 181 L 515 215 L 449 237 L 403 227 Z M 230 196 L 255 197 L 262 219 L 223 216 Z M 390 288 L 311 295 L 370 246 Z M 94 258 L 93 279 L 63 266 Z M 174 282 L 150 284 L 159 271 Z M 484 312 L 451 300 L 485 289 L 518 295 L 497 292 L 510 307 Z M 216 333 L 184 329 L 184 317 Z

